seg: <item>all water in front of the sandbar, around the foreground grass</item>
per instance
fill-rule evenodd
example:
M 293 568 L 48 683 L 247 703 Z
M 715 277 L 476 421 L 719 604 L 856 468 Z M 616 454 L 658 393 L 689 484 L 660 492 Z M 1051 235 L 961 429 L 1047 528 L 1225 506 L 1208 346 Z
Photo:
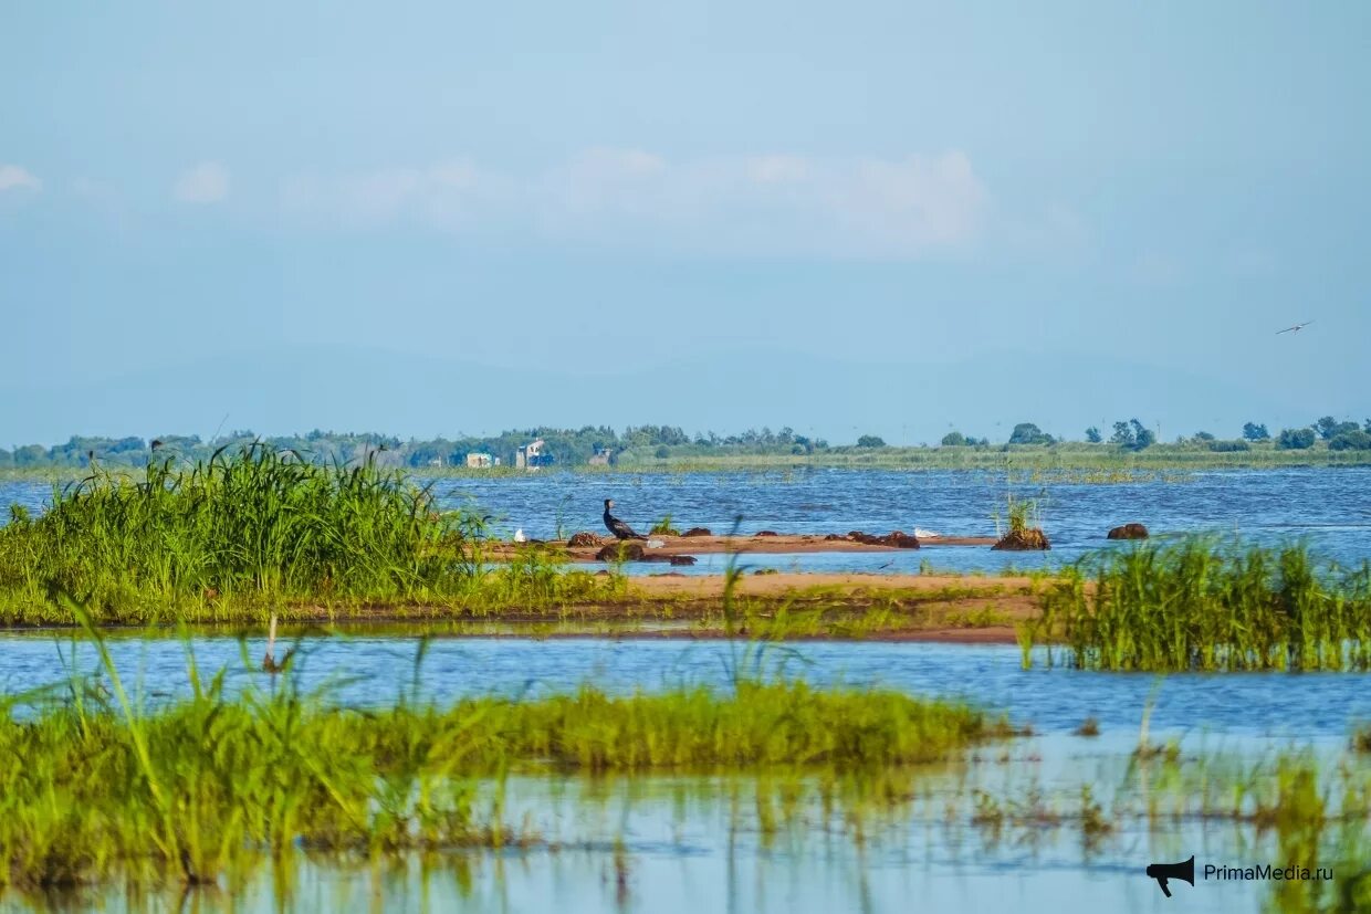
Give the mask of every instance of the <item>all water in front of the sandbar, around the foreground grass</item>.
M 255 669 L 265 648 L 260 639 L 240 645 L 202 636 L 191 648 L 203 671 L 230 670 L 232 691 L 273 688 L 271 677 Z M 186 692 L 186 644 L 115 637 L 110 650 L 140 702 Z M 409 637 L 311 636 L 300 640 L 298 674 L 304 688 L 328 689 L 336 702 L 374 706 L 402 695 L 441 702 L 561 692 L 580 682 L 614 692 L 681 684 L 728 688 L 732 670 L 757 669 L 749 663 L 749 645 L 720 641 L 437 639 L 415 667 L 417 651 L 418 641 Z M 766 782 L 746 776 L 515 778 L 507 785 L 505 819 L 557 847 L 406 855 L 376 865 L 296 852 L 282 863 L 289 891 L 263 865 L 233 891 L 186 898 L 155 888 L 90 889 L 75 898 L 8 891 L 0 893 L 0 911 L 1304 910 L 1274 907 L 1270 882 L 1200 880 L 1193 888 L 1172 884 L 1178 899 L 1163 896 L 1142 872 L 1152 862 L 1190 855 L 1201 867 L 1289 861 L 1274 833 L 1250 825 L 1141 818 L 1148 782 L 1138 781 L 1142 769 L 1130 751 L 1150 702 L 1153 739 L 1176 739 L 1185 759 L 1227 756 L 1250 770 L 1293 747 L 1339 755 L 1350 728 L 1371 719 L 1371 676 L 1152 677 L 1020 667 L 1017 648 L 1006 645 L 806 643 L 764 654 L 761 669 L 772 673 L 962 697 L 1032 725 L 1031 737 L 912 774 L 910 789 L 920 800 L 877 815 L 869 830 L 864 826 L 861 841 L 847 819 L 825 815 L 813 798 L 772 833 L 760 818 L 766 804 L 755 796 Z M 73 643 L 70 633 L 0 636 L 0 689 L 14 695 L 60 678 L 64 669 L 96 674 L 95 651 Z M 1087 717 L 1100 721 L 1098 739 L 1071 734 Z M 1098 843 L 1087 841 L 1072 818 L 1082 785 L 1105 804 L 1113 826 Z M 1008 804 L 1041 795 L 1067 818 L 995 833 L 972 822 L 976 791 Z M 1121 806 L 1116 798 L 1124 798 Z M 1337 862 L 1339 878 L 1356 876 L 1341 848 L 1322 854 L 1308 863 Z

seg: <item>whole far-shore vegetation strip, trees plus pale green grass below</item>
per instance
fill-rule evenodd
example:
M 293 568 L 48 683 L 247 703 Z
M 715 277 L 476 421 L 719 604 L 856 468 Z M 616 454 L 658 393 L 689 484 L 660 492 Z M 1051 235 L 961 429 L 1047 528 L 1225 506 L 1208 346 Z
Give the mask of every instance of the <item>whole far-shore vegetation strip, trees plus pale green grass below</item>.
M 1038 469 L 1038 467 L 1267 467 L 1308 465 L 1371 465 L 1371 419 L 1364 425 L 1323 417 L 1298 429 L 1268 432 L 1248 422 L 1235 439 L 1208 432 L 1180 436 L 1171 443 L 1138 419 L 1120 421 L 1111 434 L 1086 429 L 1084 440 L 1068 440 L 1020 422 L 1008 441 L 949 432 L 936 445 L 890 445 L 876 434 L 861 434 L 856 444 L 829 444 L 798 434 L 790 428 L 772 432 L 749 429 L 739 434 L 714 432 L 687 434 L 676 426 L 609 426 L 580 429 L 532 428 L 496 436 L 462 436 L 426 441 L 380 433 L 314 430 L 298 436 L 259 437 L 236 430 L 213 440 L 166 434 L 141 437 L 73 436 L 64 444 L 0 447 L 0 474 L 27 475 L 44 471 L 82 470 L 92 460 L 107 469 L 143 467 L 154 455 L 188 463 L 207 460 L 215 451 L 239 451 L 260 443 L 276 451 L 293 451 L 322 465 L 378 466 L 418 471 L 509 473 L 525 469 L 653 470 L 653 469 L 754 469 L 769 466 L 872 466 L 927 469 Z

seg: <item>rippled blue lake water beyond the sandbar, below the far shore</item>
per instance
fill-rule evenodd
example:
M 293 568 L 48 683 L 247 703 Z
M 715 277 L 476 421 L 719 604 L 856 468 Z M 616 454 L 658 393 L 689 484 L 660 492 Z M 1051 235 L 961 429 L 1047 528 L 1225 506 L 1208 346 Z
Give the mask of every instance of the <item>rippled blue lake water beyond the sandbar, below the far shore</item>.
M 1241 534 L 1256 543 L 1304 540 L 1322 556 L 1348 565 L 1371 559 L 1371 467 L 1282 470 L 1206 470 L 1145 474 L 1138 481 L 1094 484 L 1046 475 L 1013 482 L 1004 473 L 792 470 L 776 473 L 576 474 L 540 471 L 524 477 L 447 478 L 433 482 L 447 507 L 476 504 L 494 515 L 495 530 L 529 537 L 603 533 L 603 500 L 646 532 L 664 515 L 677 529 L 706 526 L 716 533 L 912 532 L 945 534 L 995 532 L 1006 496 L 1035 497 L 1053 548 L 1047 554 L 1004 554 L 988 548 L 943 547 L 880 554 L 749 556 L 749 567 L 803 570 L 914 571 L 928 562 L 939 570 L 997 571 L 1071 562 L 1108 548 L 1112 526 L 1141 522 L 1154 534 L 1209 532 Z M 0 482 L 0 506 L 43 510 L 51 485 Z M 0 511 L 0 522 L 8 512 Z M 692 573 L 718 573 L 723 556 L 701 556 Z M 635 571 L 659 570 L 639 566 Z M 680 569 L 677 569 L 680 570 Z

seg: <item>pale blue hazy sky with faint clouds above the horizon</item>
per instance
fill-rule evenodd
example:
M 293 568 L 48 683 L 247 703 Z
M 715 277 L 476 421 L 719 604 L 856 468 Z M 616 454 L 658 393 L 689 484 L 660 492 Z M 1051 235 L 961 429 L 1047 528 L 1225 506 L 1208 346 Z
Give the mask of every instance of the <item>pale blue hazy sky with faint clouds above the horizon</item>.
M 1359 1 L 10 4 L 0 447 L 1364 419 L 1368 85 Z

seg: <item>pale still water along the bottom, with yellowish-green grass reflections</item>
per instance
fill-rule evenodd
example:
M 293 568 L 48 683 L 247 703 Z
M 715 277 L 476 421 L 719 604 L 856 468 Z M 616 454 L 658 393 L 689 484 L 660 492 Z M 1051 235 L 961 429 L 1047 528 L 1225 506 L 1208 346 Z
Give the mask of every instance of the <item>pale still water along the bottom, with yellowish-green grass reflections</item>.
M 1293 913 L 1327 903 L 1333 888 L 1197 878 L 1193 888 L 1175 885 L 1180 898 L 1168 902 L 1143 867 L 1191 854 L 1201 867 L 1313 854 L 1355 876 L 1361 858 L 1345 855 L 1367 847 L 1364 819 L 1352 824 L 1350 839 L 1330 828 L 1302 847 L 1298 828 L 1205 815 L 1208 802 L 1193 792 L 1204 778 L 1219 778 L 1212 763 L 1139 765 L 1063 736 L 876 780 L 514 778 L 505 808 L 536 832 L 525 847 L 373 856 L 296 848 L 280 861 L 263 858 L 237 885 L 10 891 L 0 911 L 827 914 L 1183 904 Z M 1082 784 L 1093 785 L 1089 802 L 1106 814 L 1102 826 L 1089 824 Z M 988 821 L 980 796 L 1010 813 Z

